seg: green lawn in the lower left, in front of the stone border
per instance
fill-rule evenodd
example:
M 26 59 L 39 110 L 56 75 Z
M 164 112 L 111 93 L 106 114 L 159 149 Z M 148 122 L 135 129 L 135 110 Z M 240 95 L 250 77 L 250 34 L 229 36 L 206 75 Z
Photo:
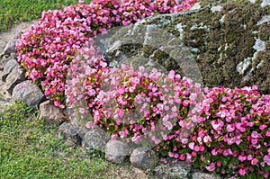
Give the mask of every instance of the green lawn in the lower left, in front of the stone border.
M 103 154 L 89 156 L 36 116 L 24 103 L 0 112 L 0 178 L 136 178 L 128 162 L 113 165 Z

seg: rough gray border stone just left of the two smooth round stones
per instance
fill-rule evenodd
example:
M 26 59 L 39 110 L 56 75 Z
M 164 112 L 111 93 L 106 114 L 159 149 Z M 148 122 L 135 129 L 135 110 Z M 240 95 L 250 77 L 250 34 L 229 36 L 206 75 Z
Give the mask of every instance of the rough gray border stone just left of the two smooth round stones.
M 93 153 L 96 150 L 104 151 L 106 143 L 109 141 L 110 135 L 105 131 L 97 128 L 90 130 L 85 134 L 82 141 L 82 146 L 86 148 L 86 151 Z

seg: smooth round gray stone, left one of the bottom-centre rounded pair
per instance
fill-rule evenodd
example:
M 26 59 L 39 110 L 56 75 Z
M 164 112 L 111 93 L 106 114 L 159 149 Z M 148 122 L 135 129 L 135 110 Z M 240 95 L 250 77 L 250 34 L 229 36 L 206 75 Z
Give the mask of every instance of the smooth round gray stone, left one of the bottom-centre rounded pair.
M 105 148 L 106 158 L 113 163 L 122 163 L 130 156 L 129 145 L 116 139 L 110 139 Z

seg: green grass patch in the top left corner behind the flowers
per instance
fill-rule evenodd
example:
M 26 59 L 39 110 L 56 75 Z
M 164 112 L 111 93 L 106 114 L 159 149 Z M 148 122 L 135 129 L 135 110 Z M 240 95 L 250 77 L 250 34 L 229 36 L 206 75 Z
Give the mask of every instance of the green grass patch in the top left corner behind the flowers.
M 85 0 L 90 3 L 91 0 Z M 78 4 L 77 0 L 0 0 L 0 32 L 7 31 L 14 24 L 28 22 L 41 17 L 42 11 L 59 9 Z

